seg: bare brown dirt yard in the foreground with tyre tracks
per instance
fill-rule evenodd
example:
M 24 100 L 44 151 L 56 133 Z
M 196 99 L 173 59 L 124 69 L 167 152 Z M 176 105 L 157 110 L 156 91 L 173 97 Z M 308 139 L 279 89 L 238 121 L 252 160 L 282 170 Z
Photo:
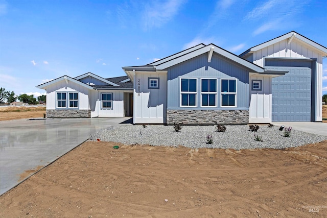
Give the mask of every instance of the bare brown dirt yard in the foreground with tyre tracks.
M 327 141 L 240 151 L 87 141 L 1 196 L 0 216 L 327 217 L 326 168 Z

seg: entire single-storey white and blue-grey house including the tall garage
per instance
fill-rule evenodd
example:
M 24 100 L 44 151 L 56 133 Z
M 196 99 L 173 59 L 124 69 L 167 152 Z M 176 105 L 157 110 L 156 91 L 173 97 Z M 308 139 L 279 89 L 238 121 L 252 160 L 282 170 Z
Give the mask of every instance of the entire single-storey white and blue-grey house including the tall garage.
M 327 48 L 292 31 L 240 56 L 198 44 L 127 77 L 63 76 L 46 89 L 47 117 L 133 115 L 134 124 L 321 122 Z

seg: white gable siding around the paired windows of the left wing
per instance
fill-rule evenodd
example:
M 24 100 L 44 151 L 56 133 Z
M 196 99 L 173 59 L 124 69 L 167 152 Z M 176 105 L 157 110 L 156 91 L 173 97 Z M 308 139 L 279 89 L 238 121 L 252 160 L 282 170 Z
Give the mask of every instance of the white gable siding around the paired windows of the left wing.
M 62 80 L 53 85 L 46 87 L 46 109 L 55 110 L 57 104 L 56 93 L 57 92 L 78 92 L 78 109 L 79 110 L 89 110 L 89 100 L 88 100 L 89 89 L 68 81 L 68 84 Z

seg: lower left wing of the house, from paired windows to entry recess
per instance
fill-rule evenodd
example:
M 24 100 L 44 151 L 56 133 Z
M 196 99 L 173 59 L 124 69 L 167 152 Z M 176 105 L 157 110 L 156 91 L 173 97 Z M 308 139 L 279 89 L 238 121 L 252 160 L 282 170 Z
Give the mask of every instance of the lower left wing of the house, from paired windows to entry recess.
M 104 79 L 88 72 L 75 78 L 62 76 L 37 87 L 46 90 L 47 118 L 133 114 L 133 84 L 127 76 Z

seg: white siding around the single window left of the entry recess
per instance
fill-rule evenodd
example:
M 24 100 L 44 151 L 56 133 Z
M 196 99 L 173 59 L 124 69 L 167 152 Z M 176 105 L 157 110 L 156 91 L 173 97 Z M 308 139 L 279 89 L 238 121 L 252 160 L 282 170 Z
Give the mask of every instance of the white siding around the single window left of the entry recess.
M 125 91 L 126 92 L 126 91 Z M 132 91 L 130 91 L 132 93 Z M 112 108 L 101 107 L 101 93 L 112 93 Z M 90 90 L 91 117 L 124 117 L 123 90 Z

